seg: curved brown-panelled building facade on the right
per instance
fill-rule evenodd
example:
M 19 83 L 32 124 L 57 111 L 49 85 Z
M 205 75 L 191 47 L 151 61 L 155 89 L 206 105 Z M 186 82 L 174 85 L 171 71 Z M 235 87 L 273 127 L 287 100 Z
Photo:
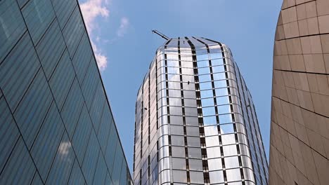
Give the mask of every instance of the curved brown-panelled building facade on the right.
M 273 57 L 269 184 L 329 182 L 329 1 L 284 0 Z

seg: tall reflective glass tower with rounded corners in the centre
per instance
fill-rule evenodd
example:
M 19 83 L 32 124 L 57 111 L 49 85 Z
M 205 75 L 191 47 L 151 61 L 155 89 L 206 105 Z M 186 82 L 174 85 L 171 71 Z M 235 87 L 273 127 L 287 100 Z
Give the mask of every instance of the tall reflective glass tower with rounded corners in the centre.
M 267 184 L 252 97 L 231 50 L 169 39 L 138 90 L 134 184 Z

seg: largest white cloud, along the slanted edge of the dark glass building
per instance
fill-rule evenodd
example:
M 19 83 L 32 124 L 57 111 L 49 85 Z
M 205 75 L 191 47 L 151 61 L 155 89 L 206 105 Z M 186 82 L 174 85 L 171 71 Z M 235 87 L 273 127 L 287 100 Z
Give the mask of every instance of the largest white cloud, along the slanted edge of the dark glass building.
M 104 71 L 108 66 L 108 57 L 103 55 L 98 47 L 93 42 L 93 30 L 97 27 L 96 18 L 101 16 L 102 18 L 108 18 L 110 11 L 104 5 L 109 4 L 109 0 L 87 0 L 81 4 L 80 8 L 82 15 L 84 16 L 84 22 L 91 38 L 91 45 L 93 46 L 93 53 L 95 53 L 96 62 L 98 68 Z M 100 41 L 101 38 L 96 36 L 96 41 Z

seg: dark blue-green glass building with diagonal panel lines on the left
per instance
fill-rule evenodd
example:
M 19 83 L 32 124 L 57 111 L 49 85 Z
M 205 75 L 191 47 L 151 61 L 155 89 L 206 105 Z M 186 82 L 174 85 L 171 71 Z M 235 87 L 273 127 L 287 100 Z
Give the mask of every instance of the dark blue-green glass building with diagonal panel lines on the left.
M 0 184 L 129 181 L 77 1 L 0 1 Z

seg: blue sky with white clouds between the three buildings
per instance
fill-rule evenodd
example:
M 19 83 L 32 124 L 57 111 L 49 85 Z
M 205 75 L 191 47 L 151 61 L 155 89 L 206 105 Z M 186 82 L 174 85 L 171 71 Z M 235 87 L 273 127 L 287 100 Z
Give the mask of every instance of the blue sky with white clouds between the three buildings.
M 273 40 L 282 1 L 80 0 L 115 123 L 132 170 L 137 90 L 164 40 L 202 36 L 231 48 L 247 83 L 269 157 Z

